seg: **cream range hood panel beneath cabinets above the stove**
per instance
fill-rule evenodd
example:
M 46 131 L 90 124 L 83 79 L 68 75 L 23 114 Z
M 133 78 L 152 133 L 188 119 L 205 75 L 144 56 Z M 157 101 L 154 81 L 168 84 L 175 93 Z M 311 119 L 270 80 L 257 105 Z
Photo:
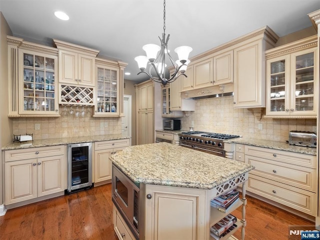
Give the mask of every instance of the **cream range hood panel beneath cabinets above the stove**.
M 221 96 L 230 96 L 230 95 L 233 95 L 233 83 L 221 84 L 221 85 L 181 92 L 182 98 L 189 98 L 189 99 L 202 99 L 202 98 L 221 97 Z

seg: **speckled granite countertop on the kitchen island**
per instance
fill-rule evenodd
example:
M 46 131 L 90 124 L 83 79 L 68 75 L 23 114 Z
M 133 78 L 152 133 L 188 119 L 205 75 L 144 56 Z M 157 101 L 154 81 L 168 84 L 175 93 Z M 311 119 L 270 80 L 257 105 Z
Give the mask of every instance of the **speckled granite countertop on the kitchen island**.
M 110 160 L 133 182 L 211 189 L 254 166 L 167 142 L 128 146 Z

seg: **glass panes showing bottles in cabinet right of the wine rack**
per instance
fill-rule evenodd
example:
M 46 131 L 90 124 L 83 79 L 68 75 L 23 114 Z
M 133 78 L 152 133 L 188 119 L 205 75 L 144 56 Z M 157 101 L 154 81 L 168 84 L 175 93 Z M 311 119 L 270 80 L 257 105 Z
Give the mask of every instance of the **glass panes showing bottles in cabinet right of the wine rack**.
M 97 68 L 97 111 L 117 112 L 117 72 Z

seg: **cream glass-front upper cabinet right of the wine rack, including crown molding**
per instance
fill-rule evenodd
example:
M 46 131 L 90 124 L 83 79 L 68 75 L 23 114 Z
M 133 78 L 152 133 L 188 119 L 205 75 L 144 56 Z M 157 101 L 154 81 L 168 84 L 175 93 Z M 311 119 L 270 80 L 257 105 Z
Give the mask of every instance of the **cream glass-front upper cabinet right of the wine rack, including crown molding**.
M 126 63 L 96 58 L 94 117 L 118 117 L 123 102 L 123 74 Z

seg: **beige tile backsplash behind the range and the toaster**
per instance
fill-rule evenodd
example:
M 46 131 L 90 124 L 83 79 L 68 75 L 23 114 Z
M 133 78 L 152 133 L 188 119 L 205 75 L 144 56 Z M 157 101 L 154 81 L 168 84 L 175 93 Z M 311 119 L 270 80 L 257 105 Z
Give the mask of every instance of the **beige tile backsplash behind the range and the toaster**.
M 233 108 L 233 96 L 203 98 L 195 100 L 195 111 L 184 112 L 182 129 L 189 129 L 193 121 L 194 130 L 242 135 L 248 138 L 285 141 L 290 130 L 314 131 L 315 118 L 258 120 L 246 108 Z M 262 124 L 262 130 L 258 124 Z

